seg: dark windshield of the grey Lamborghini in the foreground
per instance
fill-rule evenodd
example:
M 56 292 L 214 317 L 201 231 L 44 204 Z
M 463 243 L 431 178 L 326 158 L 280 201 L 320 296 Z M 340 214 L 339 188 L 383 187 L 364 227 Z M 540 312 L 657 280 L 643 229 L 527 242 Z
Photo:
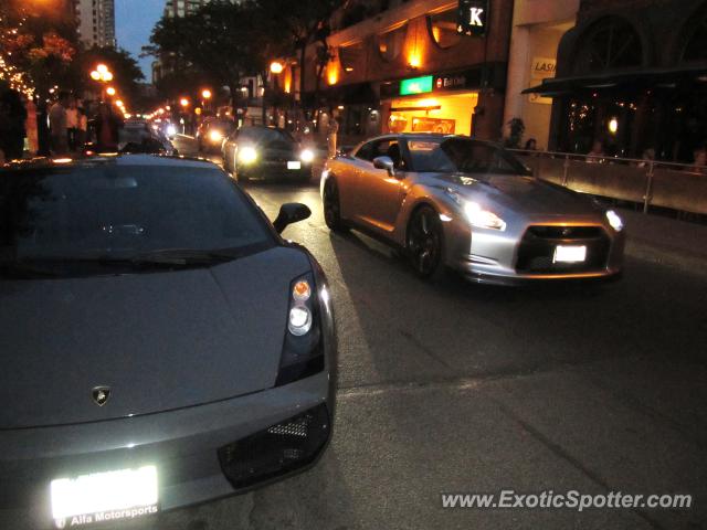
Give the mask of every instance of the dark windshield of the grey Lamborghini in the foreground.
M 205 266 L 275 244 L 243 193 L 209 168 L 0 172 L 0 278 Z

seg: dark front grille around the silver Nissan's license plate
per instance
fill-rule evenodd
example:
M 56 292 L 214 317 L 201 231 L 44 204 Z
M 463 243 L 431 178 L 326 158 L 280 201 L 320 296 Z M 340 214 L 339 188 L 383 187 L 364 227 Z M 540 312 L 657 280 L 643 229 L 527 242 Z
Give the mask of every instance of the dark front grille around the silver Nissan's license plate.
M 582 263 L 555 263 L 558 245 L 587 246 Z M 521 274 L 581 274 L 606 268 L 611 240 L 601 226 L 530 226 L 518 247 L 516 272 Z

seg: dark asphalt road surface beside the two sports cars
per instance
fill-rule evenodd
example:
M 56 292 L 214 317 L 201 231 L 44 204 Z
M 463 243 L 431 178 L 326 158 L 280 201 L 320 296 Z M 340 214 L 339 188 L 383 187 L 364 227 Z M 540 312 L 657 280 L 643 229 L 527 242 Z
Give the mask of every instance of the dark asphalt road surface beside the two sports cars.
M 314 182 L 246 189 L 271 219 L 284 202 L 314 212 L 285 235 L 333 287 L 334 441 L 307 474 L 149 528 L 707 528 L 707 267 L 629 244 L 624 279 L 603 287 L 430 285 L 379 243 L 330 234 Z M 442 508 L 442 492 L 502 489 L 695 498 L 683 510 Z

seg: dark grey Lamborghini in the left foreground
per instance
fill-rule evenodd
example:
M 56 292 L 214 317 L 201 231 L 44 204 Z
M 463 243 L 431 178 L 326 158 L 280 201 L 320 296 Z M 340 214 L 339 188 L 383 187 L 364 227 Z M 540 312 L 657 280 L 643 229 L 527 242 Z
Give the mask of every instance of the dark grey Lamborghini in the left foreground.
M 215 165 L 0 170 L 0 498 L 31 528 L 116 521 L 314 465 L 335 330 L 316 259 Z

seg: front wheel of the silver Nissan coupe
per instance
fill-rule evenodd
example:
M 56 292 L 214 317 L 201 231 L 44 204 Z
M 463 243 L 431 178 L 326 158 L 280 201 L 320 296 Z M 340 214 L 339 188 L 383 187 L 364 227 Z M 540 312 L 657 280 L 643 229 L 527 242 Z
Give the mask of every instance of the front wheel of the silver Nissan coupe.
M 439 279 L 444 274 L 444 232 L 440 215 L 430 206 L 412 214 L 408 226 L 408 259 L 423 279 Z

